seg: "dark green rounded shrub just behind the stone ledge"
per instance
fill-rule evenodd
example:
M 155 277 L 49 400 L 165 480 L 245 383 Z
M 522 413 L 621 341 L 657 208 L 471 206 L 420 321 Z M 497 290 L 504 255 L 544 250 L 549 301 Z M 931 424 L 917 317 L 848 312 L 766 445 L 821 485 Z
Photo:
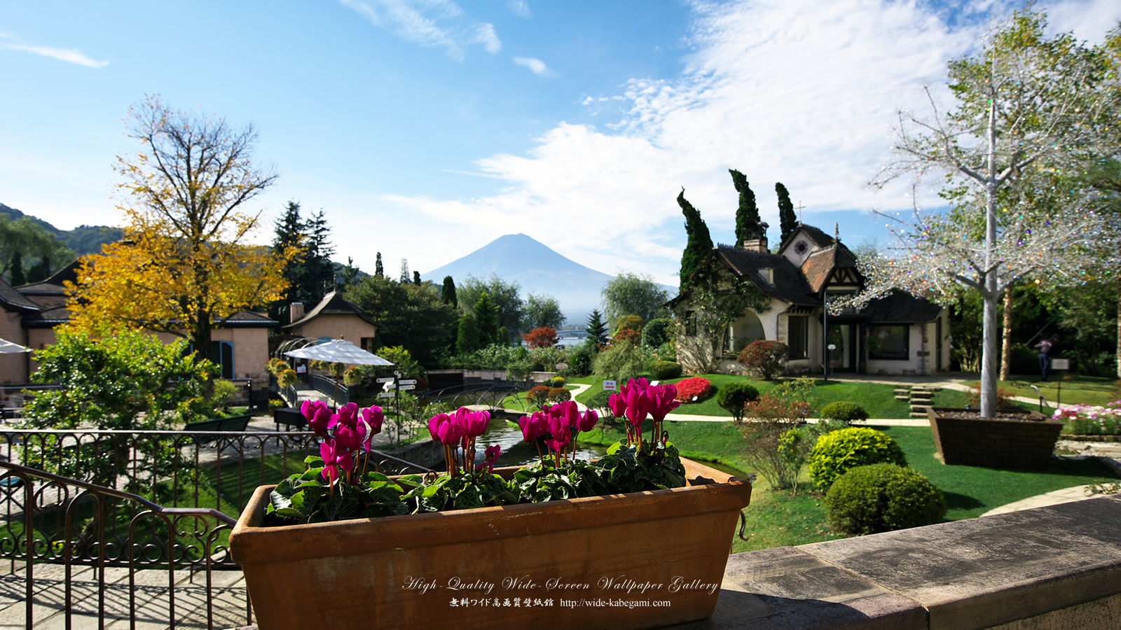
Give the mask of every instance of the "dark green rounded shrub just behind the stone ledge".
M 942 491 L 914 469 L 896 464 L 856 466 L 825 494 L 830 527 L 843 534 L 877 534 L 942 522 Z

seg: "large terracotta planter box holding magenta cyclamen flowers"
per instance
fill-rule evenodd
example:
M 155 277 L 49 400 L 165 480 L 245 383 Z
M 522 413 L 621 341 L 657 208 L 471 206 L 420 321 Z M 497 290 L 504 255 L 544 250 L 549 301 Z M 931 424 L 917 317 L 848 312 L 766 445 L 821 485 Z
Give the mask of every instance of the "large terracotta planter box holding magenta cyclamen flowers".
M 284 527 L 262 485 L 230 549 L 261 630 L 670 626 L 712 615 L 751 500 L 682 462 L 671 490 Z

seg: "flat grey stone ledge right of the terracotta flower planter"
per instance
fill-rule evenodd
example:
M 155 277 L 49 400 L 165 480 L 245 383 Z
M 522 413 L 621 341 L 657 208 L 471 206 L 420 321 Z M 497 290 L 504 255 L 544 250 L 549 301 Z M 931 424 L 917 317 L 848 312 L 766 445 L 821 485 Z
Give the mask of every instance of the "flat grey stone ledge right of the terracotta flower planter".
M 682 628 L 966 629 L 1050 613 L 1067 615 L 1068 627 L 1121 628 L 1111 612 L 1119 595 L 1114 494 L 736 554 L 715 614 Z M 1080 615 L 1091 604 L 1087 626 Z

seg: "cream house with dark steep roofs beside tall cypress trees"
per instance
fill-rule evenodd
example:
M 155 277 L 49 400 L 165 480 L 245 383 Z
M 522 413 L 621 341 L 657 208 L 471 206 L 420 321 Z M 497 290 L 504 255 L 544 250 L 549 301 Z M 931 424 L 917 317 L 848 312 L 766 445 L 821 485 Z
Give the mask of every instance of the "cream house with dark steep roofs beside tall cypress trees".
M 767 249 L 766 235 L 741 247 L 714 247 L 693 278 L 715 266 L 750 281 L 768 303 L 767 308 L 745 309 L 728 326 L 723 340 L 716 341 L 716 355 L 728 358 L 721 368 L 742 369 L 734 356 L 753 341 L 770 340 L 789 348 L 789 373 L 821 373 L 826 362 L 830 373 L 928 374 L 947 370 L 948 313 L 937 304 L 898 291 L 859 311 L 826 312 L 828 302 L 863 289 L 856 262 L 856 256 L 836 235 L 804 224 L 776 253 Z M 689 299 L 686 290 L 670 304 L 688 309 Z

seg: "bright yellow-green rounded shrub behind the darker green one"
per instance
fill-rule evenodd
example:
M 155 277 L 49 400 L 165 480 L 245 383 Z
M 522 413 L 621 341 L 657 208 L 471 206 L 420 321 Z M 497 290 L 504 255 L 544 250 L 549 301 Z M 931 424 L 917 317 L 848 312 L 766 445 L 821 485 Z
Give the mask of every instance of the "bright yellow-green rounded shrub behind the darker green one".
M 822 490 L 845 472 L 870 464 L 907 465 L 902 448 L 883 432 L 868 427 L 849 427 L 817 438 L 809 454 L 809 478 Z

